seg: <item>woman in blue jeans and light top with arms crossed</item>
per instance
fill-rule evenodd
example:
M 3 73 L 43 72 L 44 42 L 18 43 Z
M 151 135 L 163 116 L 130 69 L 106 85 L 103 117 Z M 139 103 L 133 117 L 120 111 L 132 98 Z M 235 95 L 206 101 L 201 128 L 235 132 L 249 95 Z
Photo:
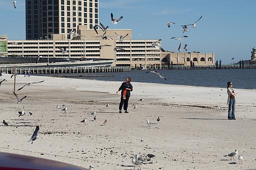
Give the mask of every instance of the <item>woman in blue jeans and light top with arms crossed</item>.
M 235 120 L 235 92 L 232 82 L 227 82 L 227 105 L 228 105 L 228 120 Z

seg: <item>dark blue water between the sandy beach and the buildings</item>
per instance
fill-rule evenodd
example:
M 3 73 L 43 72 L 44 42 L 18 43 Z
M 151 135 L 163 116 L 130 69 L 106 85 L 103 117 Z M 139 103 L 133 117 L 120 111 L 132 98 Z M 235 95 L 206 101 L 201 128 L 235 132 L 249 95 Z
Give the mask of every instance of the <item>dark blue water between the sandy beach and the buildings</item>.
M 104 81 L 124 81 L 127 76 L 132 82 L 162 83 L 204 87 L 226 87 L 228 81 L 232 81 L 234 88 L 256 89 L 256 69 L 221 69 L 221 70 L 159 70 L 158 72 L 167 78 L 160 79 L 154 73 L 145 73 L 144 70 L 118 73 L 71 73 L 71 74 L 47 74 L 49 76 L 89 76 L 69 77 L 79 79 L 92 79 Z M 113 75 L 113 76 L 92 76 Z M 45 75 L 44 75 L 45 76 Z

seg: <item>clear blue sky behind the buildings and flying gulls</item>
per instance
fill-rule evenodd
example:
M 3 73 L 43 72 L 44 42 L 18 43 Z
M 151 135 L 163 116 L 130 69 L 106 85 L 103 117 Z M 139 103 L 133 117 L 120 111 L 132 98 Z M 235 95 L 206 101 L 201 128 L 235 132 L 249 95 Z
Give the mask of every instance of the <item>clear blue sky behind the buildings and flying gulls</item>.
M 17 9 L 8 0 L 0 0 L 0 34 L 11 40 L 25 39 L 25 0 L 16 0 Z M 99 20 L 109 29 L 132 29 L 133 39 L 162 39 L 165 50 L 177 52 L 179 41 L 171 37 L 187 35 L 182 41 L 189 51 L 215 53 L 215 59 L 229 64 L 250 59 L 251 49 L 256 45 L 255 0 L 205 1 L 205 0 L 99 0 Z M 112 25 L 110 13 L 123 19 Z M 195 29 L 182 33 L 181 25 L 192 24 Z M 175 22 L 167 28 L 167 22 Z M 4 24 L 5 23 L 5 24 Z

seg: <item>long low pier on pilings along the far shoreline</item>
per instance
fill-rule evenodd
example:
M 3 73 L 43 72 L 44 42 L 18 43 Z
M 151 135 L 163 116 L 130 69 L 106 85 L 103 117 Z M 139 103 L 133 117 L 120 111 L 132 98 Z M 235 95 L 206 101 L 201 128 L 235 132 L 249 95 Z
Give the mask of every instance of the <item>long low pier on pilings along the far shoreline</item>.
M 17 73 L 24 74 L 28 70 L 30 74 L 58 74 L 58 73 L 104 73 L 104 72 L 129 72 L 130 66 L 110 67 L 17 67 Z M 0 68 L 0 72 L 14 74 L 15 68 Z

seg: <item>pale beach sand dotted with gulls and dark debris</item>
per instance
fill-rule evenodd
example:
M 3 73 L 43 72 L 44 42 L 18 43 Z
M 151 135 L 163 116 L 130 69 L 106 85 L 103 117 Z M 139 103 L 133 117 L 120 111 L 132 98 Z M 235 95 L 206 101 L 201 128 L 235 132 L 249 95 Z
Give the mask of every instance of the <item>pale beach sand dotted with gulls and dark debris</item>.
M 236 120 L 227 120 L 225 88 L 132 82 L 129 113 L 119 114 L 120 93 L 115 92 L 121 82 L 19 75 L 16 93 L 27 98 L 17 103 L 10 77 L 0 77 L 8 80 L 0 87 L 0 120 L 9 123 L 0 126 L 1 151 L 94 169 L 134 169 L 131 157 L 148 153 L 156 157 L 142 169 L 256 169 L 256 90 L 234 85 Z M 67 106 L 66 116 L 57 104 Z M 18 117 L 23 106 L 26 115 Z M 88 115 L 94 111 L 95 121 Z M 157 123 L 158 116 L 161 124 L 148 127 L 146 120 Z M 43 138 L 31 144 L 36 125 Z M 223 156 L 234 149 L 244 156 L 242 164 L 238 156 L 234 161 Z

